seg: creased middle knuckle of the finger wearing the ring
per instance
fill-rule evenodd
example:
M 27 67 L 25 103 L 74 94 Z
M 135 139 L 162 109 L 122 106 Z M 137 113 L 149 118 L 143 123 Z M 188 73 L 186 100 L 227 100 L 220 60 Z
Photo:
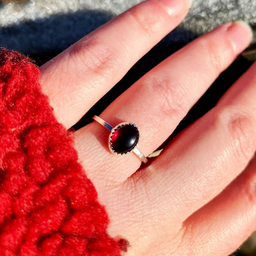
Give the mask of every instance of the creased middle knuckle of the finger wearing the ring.
M 173 85 L 170 78 L 151 78 L 150 86 L 162 112 L 175 119 L 186 115 L 189 104 L 183 86 Z

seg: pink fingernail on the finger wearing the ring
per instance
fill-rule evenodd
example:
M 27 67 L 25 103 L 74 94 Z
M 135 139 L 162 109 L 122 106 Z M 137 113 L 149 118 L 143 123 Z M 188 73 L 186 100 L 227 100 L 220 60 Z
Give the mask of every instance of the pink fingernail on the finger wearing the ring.
M 236 53 L 242 52 L 252 40 L 252 29 L 244 21 L 235 21 L 227 28 Z

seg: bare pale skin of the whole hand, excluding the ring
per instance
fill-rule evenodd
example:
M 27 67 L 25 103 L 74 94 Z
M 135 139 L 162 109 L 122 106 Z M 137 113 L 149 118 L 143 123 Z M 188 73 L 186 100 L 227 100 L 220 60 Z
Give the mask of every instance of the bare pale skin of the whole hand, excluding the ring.
M 183 20 L 189 5 L 142 2 L 44 64 L 42 90 L 58 121 L 73 126 Z M 197 38 L 135 82 L 100 117 L 113 125 L 137 124 L 138 148 L 151 154 L 251 36 L 244 23 L 229 22 Z M 74 132 L 81 164 L 109 214 L 109 234 L 130 243 L 125 255 L 223 256 L 256 229 L 255 74 L 253 64 L 212 110 L 142 167 L 134 154 L 110 154 L 109 132 L 97 122 Z

